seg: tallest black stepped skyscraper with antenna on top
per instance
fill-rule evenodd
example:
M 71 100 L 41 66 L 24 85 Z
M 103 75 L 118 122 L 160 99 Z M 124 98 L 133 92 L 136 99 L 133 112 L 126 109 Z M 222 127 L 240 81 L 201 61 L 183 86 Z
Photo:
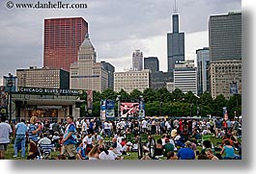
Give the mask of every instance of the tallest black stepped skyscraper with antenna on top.
M 175 62 L 185 61 L 185 33 L 179 32 L 179 15 L 176 2 L 173 18 L 173 33 L 167 34 L 168 71 L 173 71 Z

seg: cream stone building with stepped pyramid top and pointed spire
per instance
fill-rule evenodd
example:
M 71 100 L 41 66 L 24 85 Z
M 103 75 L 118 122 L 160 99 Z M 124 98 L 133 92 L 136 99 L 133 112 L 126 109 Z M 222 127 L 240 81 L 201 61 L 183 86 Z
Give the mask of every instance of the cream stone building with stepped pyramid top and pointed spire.
M 86 35 L 79 47 L 78 61 L 71 63 L 71 89 L 90 89 L 102 92 L 108 87 L 108 73 L 101 62 L 96 62 L 96 51 Z

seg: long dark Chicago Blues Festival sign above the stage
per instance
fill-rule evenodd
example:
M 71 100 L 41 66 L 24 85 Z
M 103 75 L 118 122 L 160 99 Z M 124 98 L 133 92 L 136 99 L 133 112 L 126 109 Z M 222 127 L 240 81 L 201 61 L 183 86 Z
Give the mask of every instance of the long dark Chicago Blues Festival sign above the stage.
M 43 88 L 43 87 L 17 87 L 19 93 L 52 93 L 60 95 L 81 95 L 82 89 L 66 89 L 66 88 Z

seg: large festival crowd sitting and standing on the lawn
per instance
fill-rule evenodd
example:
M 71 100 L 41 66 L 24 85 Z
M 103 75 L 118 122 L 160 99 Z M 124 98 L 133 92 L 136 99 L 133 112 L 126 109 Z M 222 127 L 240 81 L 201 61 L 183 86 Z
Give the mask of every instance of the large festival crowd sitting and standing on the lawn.
M 6 122 L 2 116 L 0 158 L 5 158 L 7 145 L 14 138 L 14 158 L 21 151 L 21 158 L 41 159 L 43 152 L 39 147 L 52 144 L 52 150 L 59 152 L 58 160 L 122 160 L 136 150 L 137 137 L 142 133 L 149 137 L 161 136 L 156 139 L 155 159 L 242 159 L 242 144 L 238 140 L 242 137 L 242 121 L 239 119 L 122 118 L 111 121 L 86 117 L 74 120 L 71 115 L 60 122 L 32 116 L 15 124 Z M 135 142 L 128 141 L 128 134 Z M 213 144 L 209 138 L 204 139 L 207 136 L 222 137 L 222 142 Z M 197 146 L 202 146 L 201 152 Z M 143 148 L 142 160 L 152 159 L 147 155 L 148 145 Z

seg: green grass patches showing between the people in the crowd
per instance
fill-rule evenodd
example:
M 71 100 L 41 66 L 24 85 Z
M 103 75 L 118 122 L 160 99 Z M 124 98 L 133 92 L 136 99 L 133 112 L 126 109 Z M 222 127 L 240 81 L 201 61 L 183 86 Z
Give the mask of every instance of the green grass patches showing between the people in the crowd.
M 152 137 L 154 137 L 155 139 L 158 139 L 158 138 L 161 138 L 161 136 L 159 135 L 153 135 Z M 217 137 L 210 137 L 213 145 L 216 145 L 217 142 L 221 142 L 221 138 L 217 138 Z M 106 138 L 105 140 L 109 140 L 109 138 Z M 200 152 L 202 149 L 202 146 L 197 146 L 197 150 Z M 28 154 L 28 149 L 26 149 L 26 155 Z M 52 158 L 57 158 L 58 154 L 60 154 L 60 151 L 52 151 L 51 153 L 51 157 Z M 21 158 L 21 152 L 19 151 L 18 153 L 18 157 L 17 158 L 14 158 L 14 144 L 9 144 L 8 145 L 8 149 L 6 151 L 6 154 L 5 154 L 5 158 L 6 160 L 26 160 L 27 159 L 27 156 L 25 158 Z M 162 158 L 162 159 L 165 159 L 165 158 Z M 129 153 L 129 156 L 126 155 L 124 156 L 124 160 L 138 160 L 138 154 L 137 152 L 131 152 Z

